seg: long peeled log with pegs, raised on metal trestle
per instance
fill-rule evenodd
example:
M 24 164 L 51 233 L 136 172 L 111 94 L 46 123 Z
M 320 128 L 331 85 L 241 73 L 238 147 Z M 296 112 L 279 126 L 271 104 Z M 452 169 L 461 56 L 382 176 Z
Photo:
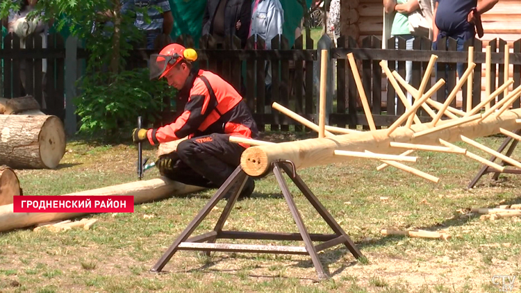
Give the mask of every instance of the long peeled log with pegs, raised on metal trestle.
M 290 160 L 299 169 L 353 160 L 353 158 L 345 156 L 335 156 L 335 150 L 397 154 L 403 152 L 403 149 L 390 147 L 390 142 L 431 145 L 439 145 L 440 139 L 447 142 L 457 142 L 461 141 L 461 135 L 470 138 L 483 137 L 499 133 L 500 128 L 515 131 L 520 127 L 515 120 L 520 118 L 521 109 L 515 109 L 507 110 L 497 118 L 489 116 L 481 122 L 479 122 L 479 119 L 474 119 L 464 124 L 417 137 L 414 137 L 414 133 L 431 128 L 430 123 L 415 124 L 410 129 L 401 126 L 396 128 L 391 135 L 388 135 L 387 129 L 381 129 L 337 135 L 336 137 L 313 138 L 270 146 L 250 147 L 242 153 L 240 163 L 242 169 L 250 176 L 261 176 L 270 171 L 270 165 L 276 160 Z M 443 128 L 444 124 L 454 123 L 455 120 L 458 119 L 440 121 L 436 127 Z

